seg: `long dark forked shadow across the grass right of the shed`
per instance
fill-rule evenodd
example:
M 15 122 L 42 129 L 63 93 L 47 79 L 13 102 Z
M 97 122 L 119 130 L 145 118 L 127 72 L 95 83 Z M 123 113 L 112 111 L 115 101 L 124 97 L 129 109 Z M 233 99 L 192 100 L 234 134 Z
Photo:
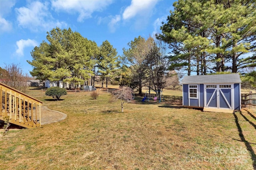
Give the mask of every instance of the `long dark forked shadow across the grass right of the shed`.
M 237 112 L 236 112 L 236 113 L 237 113 Z M 249 142 L 245 139 L 245 137 L 244 137 L 244 134 L 243 134 L 242 128 L 241 128 L 241 126 L 240 126 L 240 124 L 239 124 L 238 117 L 237 117 L 236 113 L 233 113 L 233 115 L 234 115 L 234 118 L 235 118 L 236 127 L 237 127 L 237 130 L 238 130 L 238 133 L 239 133 L 239 137 L 240 137 L 240 139 L 241 139 L 241 142 L 244 143 L 244 145 L 246 146 L 246 149 L 247 149 L 248 152 L 250 153 L 251 159 L 252 159 L 252 167 L 254 168 L 254 170 L 256 170 L 256 154 L 255 154 L 255 152 L 254 152 L 252 146 L 250 145 L 250 144 L 252 144 L 252 143 L 249 143 Z M 242 115 L 242 117 L 244 117 L 244 119 L 246 119 L 247 121 L 249 121 L 249 120 L 242 114 L 241 111 L 240 111 L 240 115 Z M 254 123 L 252 123 L 252 122 L 250 122 L 250 121 L 249 121 L 249 123 L 250 123 L 251 125 L 253 125 L 254 128 L 255 128 L 255 124 L 254 124 Z M 236 139 L 234 139 L 234 140 L 236 140 Z M 236 140 L 236 141 L 239 141 L 239 140 Z

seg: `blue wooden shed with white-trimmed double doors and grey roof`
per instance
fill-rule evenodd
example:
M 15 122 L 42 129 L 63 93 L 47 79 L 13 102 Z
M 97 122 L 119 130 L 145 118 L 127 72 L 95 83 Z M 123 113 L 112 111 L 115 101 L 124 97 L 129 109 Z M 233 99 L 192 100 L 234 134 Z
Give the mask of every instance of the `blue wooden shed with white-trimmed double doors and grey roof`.
M 181 84 L 185 107 L 226 113 L 241 110 L 239 74 L 186 76 Z

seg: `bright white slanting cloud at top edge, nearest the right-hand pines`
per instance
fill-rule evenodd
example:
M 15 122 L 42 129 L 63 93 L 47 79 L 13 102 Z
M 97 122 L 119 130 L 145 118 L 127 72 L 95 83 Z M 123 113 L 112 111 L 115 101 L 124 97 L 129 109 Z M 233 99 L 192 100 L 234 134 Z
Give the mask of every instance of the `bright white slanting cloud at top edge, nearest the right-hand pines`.
M 152 12 L 158 0 L 132 0 L 122 15 L 124 20 L 135 17 L 136 15 L 145 16 Z

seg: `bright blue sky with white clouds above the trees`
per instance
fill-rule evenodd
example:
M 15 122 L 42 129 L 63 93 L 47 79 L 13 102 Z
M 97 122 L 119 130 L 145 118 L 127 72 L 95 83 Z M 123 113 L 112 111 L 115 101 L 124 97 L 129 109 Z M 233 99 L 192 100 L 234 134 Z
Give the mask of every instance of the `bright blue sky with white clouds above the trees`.
M 98 46 L 108 40 L 118 54 L 139 35 L 160 32 L 174 0 L 0 0 L 0 67 L 32 70 L 30 52 L 60 27 L 79 32 Z

